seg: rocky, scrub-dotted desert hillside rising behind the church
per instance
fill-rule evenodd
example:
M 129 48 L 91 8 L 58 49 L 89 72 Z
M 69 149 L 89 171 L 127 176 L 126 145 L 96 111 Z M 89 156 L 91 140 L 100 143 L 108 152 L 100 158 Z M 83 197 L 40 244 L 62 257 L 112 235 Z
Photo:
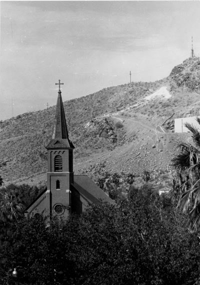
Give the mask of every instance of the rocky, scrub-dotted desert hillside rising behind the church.
M 200 59 L 195 57 L 162 80 L 113 86 L 64 102 L 75 172 L 93 173 L 102 162 L 113 172 L 166 171 L 176 141 L 189 139 L 188 134 L 174 134 L 167 122 L 198 115 L 199 82 Z M 0 174 L 5 182 L 45 180 L 45 146 L 54 114 L 55 106 L 0 121 Z

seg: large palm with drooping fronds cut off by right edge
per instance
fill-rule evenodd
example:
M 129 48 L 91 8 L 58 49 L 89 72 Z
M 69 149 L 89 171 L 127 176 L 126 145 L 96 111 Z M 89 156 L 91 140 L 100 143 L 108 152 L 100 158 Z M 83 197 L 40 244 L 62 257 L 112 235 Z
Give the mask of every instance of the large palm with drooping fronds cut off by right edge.
M 196 118 L 200 125 L 200 119 Z M 191 132 L 193 143 L 180 142 L 178 153 L 171 160 L 176 170 L 173 193 L 178 206 L 188 213 L 191 231 L 200 231 L 200 132 L 192 124 L 185 124 Z

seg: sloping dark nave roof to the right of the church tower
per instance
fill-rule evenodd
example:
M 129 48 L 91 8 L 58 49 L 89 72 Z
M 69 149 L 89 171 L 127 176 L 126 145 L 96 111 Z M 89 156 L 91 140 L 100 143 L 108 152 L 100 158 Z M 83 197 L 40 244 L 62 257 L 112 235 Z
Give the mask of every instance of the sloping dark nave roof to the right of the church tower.
M 100 189 L 88 176 L 74 175 L 72 186 L 90 203 L 99 203 L 100 200 L 115 204 L 102 189 Z

